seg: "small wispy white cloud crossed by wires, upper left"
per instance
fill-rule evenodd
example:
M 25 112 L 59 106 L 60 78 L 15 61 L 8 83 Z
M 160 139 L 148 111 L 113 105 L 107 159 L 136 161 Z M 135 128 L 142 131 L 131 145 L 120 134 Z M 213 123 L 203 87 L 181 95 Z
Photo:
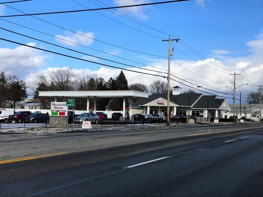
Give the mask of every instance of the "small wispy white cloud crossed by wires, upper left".
M 63 44 L 68 45 L 68 46 L 73 46 L 73 47 L 78 46 L 78 45 L 76 45 L 74 43 L 83 44 L 83 45 L 88 45 L 89 46 L 94 41 L 92 39 L 92 38 L 94 38 L 94 33 L 93 32 L 83 33 L 80 30 L 78 30 L 77 33 L 79 33 L 79 34 L 70 33 L 70 32 L 66 31 L 65 32 L 66 35 L 56 35 L 56 37 L 59 37 L 59 38 L 65 39 L 65 40 L 62 40 L 62 39 L 59 39 L 59 38 L 55 38 L 55 39 L 57 40 L 57 42 L 63 43 Z M 82 35 L 80 35 L 80 34 L 82 34 Z M 68 42 L 66 40 L 68 40 L 70 42 Z M 72 42 L 74 42 L 74 43 L 72 43 Z

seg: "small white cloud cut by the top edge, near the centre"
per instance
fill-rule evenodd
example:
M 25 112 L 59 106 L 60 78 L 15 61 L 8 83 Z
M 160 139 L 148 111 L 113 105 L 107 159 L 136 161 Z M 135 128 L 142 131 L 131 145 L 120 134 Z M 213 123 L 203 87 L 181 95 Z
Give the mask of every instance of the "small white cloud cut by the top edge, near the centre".
M 113 3 L 117 6 L 123 5 L 132 5 L 132 4 L 141 4 L 141 3 L 148 3 L 150 0 L 114 0 Z M 121 8 L 122 12 L 126 12 L 128 14 L 132 14 L 142 19 L 148 19 L 148 16 L 144 13 L 145 7 L 137 6 L 137 7 L 125 7 Z

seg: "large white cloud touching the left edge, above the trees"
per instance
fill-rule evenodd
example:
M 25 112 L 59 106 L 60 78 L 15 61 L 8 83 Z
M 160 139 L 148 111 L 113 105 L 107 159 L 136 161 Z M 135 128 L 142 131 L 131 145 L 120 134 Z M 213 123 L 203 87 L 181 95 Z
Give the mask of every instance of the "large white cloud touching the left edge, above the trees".
M 27 45 L 36 46 L 36 43 Z M 26 46 L 18 46 L 14 49 L 0 48 L 0 71 L 24 78 L 28 73 L 43 66 L 47 57 L 41 55 L 38 50 Z

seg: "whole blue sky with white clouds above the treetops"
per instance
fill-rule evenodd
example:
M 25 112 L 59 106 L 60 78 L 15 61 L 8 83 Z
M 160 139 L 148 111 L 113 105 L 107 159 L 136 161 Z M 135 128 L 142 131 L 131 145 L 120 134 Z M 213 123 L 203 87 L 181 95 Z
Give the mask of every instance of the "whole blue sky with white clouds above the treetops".
M 157 0 L 32 0 L 6 5 L 25 13 L 38 13 L 147 2 L 157 2 Z M 0 5 L 0 16 L 21 14 L 15 9 Z M 136 23 L 119 15 L 130 17 L 130 20 L 135 19 Z M 184 91 L 188 89 L 184 84 L 188 84 L 195 88 L 202 86 L 218 92 L 231 93 L 231 90 L 225 86 L 233 86 L 233 75 L 229 73 L 234 71 L 241 74 L 236 77 L 237 86 L 249 83 L 237 89 L 237 94 L 242 92 L 243 97 L 247 97 L 250 91 L 255 91 L 256 85 L 263 84 L 262 0 L 250 0 L 249 3 L 247 0 L 190 0 L 111 11 L 37 17 L 54 25 L 31 16 L 22 16 L 0 18 L 9 21 L 0 20 L 0 27 L 82 53 L 158 71 L 167 69 L 168 60 L 165 57 L 168 55 L 168 43 L 162 42 L 162 39 L 168 39 L 168 34 L 171 34 L 172 38 L 181 39 L 179 43 L 176 41 L 172 43 L 174 53 L 171 72 L 185 80 L 172 76 L 178 82 L 171 81 L 171 86 L 179 85 Z M 147 28 L 149 26 L 151 28 Z M 155 31 L 156 29 L 158 31 Z M 0 30 L 0 37 L 101 64 L 163 75 L 79 54 L 4 30 Z M 77 77 L 96 74 L 105 80 L 116 77 L 120 72 L 120 69 L 62 57 L 0 40 L 0 71 L 18 75 L 28 84 L 32 83 L 39 74 L 46 75 L 52 69 L 65 67 L 73 68 Z M 130 71 L 124 73 L 129 84 L 150 85 L 156 79 L 165 80 L 163 77 L 142 73 Z M 214 94 L 225 95 L 216 92 Z M 231 102 L 231 99 L 228 101 Z

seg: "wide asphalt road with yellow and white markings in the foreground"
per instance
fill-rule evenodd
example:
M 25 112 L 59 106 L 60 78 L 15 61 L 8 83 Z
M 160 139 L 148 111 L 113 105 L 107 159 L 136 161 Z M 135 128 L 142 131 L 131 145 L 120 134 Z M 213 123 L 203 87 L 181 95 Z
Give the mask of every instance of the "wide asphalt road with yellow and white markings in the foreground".
M 62 141 L 64 152 L 19 149 Z M 4 135 L 0 147 L 23 156 L 0 160 L 0 196 L 263 196 L 262 124 Z

